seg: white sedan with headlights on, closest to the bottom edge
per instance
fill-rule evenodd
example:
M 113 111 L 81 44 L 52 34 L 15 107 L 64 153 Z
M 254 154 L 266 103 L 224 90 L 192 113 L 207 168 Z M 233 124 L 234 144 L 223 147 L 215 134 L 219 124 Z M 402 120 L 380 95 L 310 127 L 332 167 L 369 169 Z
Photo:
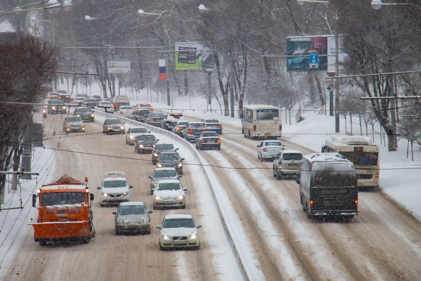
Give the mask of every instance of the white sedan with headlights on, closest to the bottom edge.
M 194 247 L 200 249 L 199 227 L 191 215 L 166 215 L 159 228 L 159 250 Z

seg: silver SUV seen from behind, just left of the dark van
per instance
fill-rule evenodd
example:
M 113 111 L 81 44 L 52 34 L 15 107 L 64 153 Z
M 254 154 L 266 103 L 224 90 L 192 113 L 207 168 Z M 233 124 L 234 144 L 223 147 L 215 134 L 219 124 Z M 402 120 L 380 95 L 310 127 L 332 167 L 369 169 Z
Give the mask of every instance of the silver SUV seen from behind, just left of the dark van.
M 273 161 L 273 176 L 281 179 L 282 176 L 294 176 L 301 172 L 303 153 L 299 150 L 282 150 Z

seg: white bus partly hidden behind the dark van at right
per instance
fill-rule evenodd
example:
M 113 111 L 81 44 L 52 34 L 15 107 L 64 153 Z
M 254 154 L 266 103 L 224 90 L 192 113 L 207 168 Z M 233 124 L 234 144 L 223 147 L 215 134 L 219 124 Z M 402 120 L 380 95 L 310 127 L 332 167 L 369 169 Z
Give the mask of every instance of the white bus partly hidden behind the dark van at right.
M 371 137 L 334 136 L 326 140 L 321 152 L 337 152 L 354 163 L 358 186 L 379 185 L 378 146 L 371 143 Z

